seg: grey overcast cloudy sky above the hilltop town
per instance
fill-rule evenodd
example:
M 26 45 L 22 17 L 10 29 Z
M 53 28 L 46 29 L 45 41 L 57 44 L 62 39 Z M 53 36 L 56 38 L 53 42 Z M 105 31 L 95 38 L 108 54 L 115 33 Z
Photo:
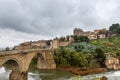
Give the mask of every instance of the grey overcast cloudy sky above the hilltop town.
M 108 28 L 120 22 L 120 0 L 0 0 L 0 48 Z

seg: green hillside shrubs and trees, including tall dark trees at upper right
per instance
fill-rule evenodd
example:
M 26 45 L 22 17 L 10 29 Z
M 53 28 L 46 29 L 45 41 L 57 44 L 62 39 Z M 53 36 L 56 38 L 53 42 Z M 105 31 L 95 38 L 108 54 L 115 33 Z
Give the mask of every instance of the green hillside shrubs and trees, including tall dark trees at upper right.
M 106 38 L 89 40 L 87 36 L 76 36 L 74 43 L 68 47 L 55 50 L 57 66 L 74 66 L 81 69 L 105 68 L 106 56 L 120 56 L 120 24 L 112 24 L 106 31 Z M 112 37 L 112 34 L 116 36 Z

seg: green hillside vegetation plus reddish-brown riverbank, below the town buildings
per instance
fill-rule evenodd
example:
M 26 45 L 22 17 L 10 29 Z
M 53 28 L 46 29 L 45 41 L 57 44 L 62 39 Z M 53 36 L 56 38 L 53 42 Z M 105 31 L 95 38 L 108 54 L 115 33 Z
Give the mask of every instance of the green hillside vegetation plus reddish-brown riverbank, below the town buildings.
M 106 71 L 106 56 L 120 57 L 120 36 L 89 40 L 74 36 L 75 42 L 55 51 L 57 67 L 77 75 L 87 75 Z

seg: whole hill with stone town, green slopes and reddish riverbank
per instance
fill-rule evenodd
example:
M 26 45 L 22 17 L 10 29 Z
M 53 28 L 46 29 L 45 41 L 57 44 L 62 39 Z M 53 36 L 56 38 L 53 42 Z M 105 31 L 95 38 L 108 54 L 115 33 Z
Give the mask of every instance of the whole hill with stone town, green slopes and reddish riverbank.
M 56 37 L 52 40 L 24 42 L 12 50 L 22 50 L 22 54 L 26 54 L 25 50 L 49 49 L 57 68 L 77 75 L 88 75 L 108 69 L 120 69 L 119 35 L 118 24 L 113 24 L 109 30 L 103 28 L 93 32 L 75 28 L 73 35 Z M 6 51 L 9 52 L 9 48 L 6 48 Z M 39 55 L 33 58 L 32 66 L 37 65 L 35 60 L 38 60 L 38 57 Z

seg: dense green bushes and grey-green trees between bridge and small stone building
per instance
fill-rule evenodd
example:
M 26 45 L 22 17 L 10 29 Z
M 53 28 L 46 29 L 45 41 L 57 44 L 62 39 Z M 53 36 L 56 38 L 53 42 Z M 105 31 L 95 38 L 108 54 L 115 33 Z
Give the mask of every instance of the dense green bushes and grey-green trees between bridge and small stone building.
M 57 66 L 79 67 L 83 70 L 105 67 L 103 48 L 87 37 L 74 36 L 75 43 L 59 47 L 55 52 Z

